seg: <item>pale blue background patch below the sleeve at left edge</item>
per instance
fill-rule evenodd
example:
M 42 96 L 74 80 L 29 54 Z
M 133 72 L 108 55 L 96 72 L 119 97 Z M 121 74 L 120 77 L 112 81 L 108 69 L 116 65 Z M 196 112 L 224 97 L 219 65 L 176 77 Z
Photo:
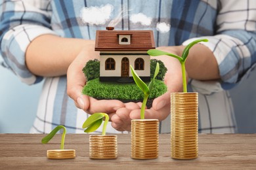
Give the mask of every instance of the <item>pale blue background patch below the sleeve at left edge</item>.
M 0 61 L 2 61 L 0 56 Z M 0 66 L 0 133 L 29 133 L 42 83 L 28 86 Z

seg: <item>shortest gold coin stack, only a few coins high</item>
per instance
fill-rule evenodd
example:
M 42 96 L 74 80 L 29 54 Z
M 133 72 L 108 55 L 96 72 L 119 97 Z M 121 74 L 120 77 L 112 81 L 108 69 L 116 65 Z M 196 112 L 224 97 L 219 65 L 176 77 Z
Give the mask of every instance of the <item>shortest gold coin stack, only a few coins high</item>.
M 54 160 L 72 159 L 75 158 L 75 150 L 64 149 L 64 150 L 47 150 L 47 158 Z

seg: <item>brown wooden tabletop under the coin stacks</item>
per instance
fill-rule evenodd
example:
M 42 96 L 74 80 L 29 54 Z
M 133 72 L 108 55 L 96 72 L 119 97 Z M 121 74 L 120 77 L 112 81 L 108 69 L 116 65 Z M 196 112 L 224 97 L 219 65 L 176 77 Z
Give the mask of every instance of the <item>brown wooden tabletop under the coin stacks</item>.
M 91 160 L 89 135 L 67 134 L 65 148 L 75 149 L 72 160 L 49 160 L 46 152 L 60 147 L 60 134 L 41 144 L 42 134 L 0 134 L 0 169 L 256 169 L 256 134 L 200 134 L 199 157 L 170 158 L 170 135 L 160 135 L 159 158 L 130 158 L 130 135 L 118 135 L 116 160 Z

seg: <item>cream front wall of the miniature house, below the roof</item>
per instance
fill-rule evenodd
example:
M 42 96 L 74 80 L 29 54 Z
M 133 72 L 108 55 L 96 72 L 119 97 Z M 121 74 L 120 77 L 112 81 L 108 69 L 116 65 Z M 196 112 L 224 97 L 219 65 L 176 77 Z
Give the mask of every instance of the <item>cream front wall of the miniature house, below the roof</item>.
M 121 60 L 123 58 L 129 59 L 129 65 L 132 65 L 133 68 L 135 67 L 135 59 L 142 58 L 144 59 L 144 70 L 139 71 L 137 70 L 137 74 L 139 76 L 150 76 L 150 56 L 148 54 L 104 54 L 100 55 L 100 76 L 121 76 Z M 105 70 L 105 61 L 108 58 L 114 58 L 116 61 L 116 69 L 115 70 Z M 129 76 L 132 76 L 131 69 L 129 69 Z

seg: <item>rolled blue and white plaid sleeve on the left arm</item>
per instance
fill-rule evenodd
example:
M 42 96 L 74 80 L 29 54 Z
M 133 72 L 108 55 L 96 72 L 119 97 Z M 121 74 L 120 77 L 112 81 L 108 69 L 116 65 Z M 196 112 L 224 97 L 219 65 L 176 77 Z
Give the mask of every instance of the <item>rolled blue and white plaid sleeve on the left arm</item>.
M 0 1 L 0 50 L 5 67 L 26 84 L 41 81 L 26 67 L 26 49 L 30 42 L 51 30 L 50 1 Z

